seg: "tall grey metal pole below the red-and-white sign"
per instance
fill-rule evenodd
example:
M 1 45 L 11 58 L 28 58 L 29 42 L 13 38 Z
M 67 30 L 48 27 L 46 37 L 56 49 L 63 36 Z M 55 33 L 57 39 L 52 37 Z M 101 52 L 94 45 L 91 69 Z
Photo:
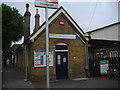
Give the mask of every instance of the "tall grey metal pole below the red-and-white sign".
M 49 83 L 49 29 L 48 29 L 48 7 L 45 8 L 46 19 L 46 85 L 50 88 Z

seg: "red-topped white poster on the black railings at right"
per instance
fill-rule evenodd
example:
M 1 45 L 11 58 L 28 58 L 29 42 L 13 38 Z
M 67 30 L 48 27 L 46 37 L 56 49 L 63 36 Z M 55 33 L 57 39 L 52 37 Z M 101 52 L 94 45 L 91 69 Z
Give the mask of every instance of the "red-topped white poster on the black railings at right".
M 108 70 L 108 60 L 100 61 L 100 74 L 102 75 L 108 74 L 107 70 Z

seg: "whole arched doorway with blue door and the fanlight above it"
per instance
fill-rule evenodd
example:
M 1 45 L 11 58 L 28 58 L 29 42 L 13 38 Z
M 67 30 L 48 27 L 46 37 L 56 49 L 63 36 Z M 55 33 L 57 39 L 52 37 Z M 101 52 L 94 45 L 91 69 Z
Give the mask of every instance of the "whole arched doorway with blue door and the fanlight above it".
M 64 43 L 56 45 L 56 79 L 68 78 L 68 46 Z

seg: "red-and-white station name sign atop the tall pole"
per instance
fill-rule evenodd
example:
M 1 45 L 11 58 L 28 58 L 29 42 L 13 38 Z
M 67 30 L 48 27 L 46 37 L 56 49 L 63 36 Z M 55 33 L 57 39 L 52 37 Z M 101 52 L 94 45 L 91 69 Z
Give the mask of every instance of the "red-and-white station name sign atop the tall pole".
M 35 0 L 35 7 L 58 8 L 58 0 Z

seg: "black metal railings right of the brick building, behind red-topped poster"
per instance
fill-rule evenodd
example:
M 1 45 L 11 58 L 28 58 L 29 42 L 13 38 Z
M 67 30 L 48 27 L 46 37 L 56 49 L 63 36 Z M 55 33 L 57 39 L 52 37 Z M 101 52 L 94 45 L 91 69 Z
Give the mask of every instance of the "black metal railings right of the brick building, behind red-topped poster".
M 100 61 L 108 60 L 108 74 L 105 76 L 109 77 L 120 77 L 120 57 L 112 57 L 112 58 L 99 58 L 94 57 L 93 59 L 89 59 L 89 72 L 92 77 L 99 77 L 100 75 Z

